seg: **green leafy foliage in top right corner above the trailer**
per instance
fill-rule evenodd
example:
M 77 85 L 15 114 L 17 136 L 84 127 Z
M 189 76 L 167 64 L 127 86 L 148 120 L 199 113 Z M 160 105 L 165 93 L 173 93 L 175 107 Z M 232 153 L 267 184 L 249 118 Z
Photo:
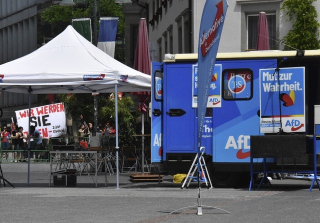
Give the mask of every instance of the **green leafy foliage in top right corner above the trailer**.
M 292 29 L 283 37 L 284 50 L 320 48 L 317 11 L 312 5 L 316 0 L 285 0 L 280 8 Z

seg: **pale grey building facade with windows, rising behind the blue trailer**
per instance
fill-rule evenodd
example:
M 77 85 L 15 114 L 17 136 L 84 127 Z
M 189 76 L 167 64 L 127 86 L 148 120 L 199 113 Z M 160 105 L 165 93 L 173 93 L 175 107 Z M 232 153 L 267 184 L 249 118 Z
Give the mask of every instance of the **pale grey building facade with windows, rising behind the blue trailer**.
M 144 11 L 147 15 L 140 16 L 148 19 L 151 60 L 162 61 L 166 53 L 197 53 L 205 0 L 132 0 L 124 8 L 133 7 L 137 2 L 146 7 L 140 13 Z M 291 23 L 280 12 L 282 2 L 283 0 L 228 0 L 218 52 L 254 49 L 260 11 L 267 15 L 270 49 L 281 50 L 283 44 L 280 40 L 291 29 Z M 320 11 L 320 4 L 314 2 L 314 6 Z M 126 25 L 133 24 L 137 25 L 138 21 L 126 17 Z M 133 33 L 127 30 L 126 39 L 130 36 Z M 153 57 L 152 53 L 155 54 Z

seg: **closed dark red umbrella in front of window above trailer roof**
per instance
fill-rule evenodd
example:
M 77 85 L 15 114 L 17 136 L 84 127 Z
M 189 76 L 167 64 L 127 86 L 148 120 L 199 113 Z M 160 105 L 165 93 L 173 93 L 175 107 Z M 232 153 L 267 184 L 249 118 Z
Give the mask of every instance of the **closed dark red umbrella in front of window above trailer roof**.
M 268 22 L 264 11 L 259 13 L 258 32 L 256 37 L 255 50 L 269 50 L 269 31 Z

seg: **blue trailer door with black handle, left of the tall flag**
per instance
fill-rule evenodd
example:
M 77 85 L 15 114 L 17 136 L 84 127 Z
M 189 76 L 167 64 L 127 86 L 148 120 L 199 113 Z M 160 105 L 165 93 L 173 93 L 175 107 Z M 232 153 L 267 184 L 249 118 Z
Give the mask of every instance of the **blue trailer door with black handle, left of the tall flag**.
M 194 63 L 193 63 L 194 64 Z M 167 63 L 163 68 L 163 158 L 167 152 L 195 152 L 192 109 L 192 63 Z

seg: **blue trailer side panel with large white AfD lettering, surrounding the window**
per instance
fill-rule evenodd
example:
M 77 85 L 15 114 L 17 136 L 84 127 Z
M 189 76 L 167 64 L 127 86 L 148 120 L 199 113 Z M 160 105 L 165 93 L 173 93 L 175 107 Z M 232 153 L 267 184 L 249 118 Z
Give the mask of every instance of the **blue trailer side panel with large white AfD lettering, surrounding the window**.
M 249 136 L 260 134 L 259 69 L 276 66 L 276 60 L 233 60 L 217 61 L 217 63 L 222 64 L 222 79 L 224 78 L 222 92 L 229 90 L 227 87 L 229 87 L 231 79 L 226 78 L 227 71 L 225 70 L 250 69 L 253 76 L 245 86 L 252 87 L 251 95 L 247 95 L 247 98 L 244 95 L 243 99 L 222 99 L 221 108 L 213 108 L 212 161 L 214 163 L 249 162 Z M 223 75 L 225 76 L 223 77 Z M 238 80 L 240 81 L 240 79 Z M 249 94 L 248 91 L 247 94 Z

